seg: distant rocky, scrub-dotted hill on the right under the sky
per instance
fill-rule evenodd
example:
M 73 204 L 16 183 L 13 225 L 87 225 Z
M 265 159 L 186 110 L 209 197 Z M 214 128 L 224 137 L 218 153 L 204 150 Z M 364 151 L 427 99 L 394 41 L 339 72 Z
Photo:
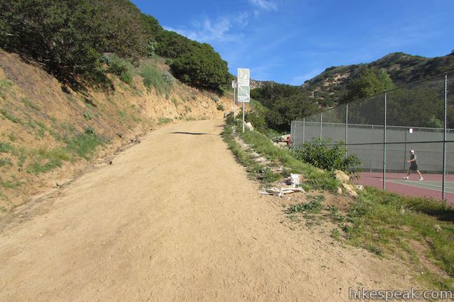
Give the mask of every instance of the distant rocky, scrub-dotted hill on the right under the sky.
M 362 66 L 385 69 L 396 86 L 422 80 L 454 69 L 454 53 L 426 58 L 394 52 L 369 64 L 332 66 L 302 85 L 319 103 L 333 104 L 345 94 L 346 86 Z

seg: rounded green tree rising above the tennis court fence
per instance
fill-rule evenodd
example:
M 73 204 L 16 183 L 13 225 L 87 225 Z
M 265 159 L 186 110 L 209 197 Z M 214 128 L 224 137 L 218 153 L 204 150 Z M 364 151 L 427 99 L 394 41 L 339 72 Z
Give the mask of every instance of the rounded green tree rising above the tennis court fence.
M 363 99 L 394 88 L 390 76 L 383 69 L 363 67 L 347 85 L 347 94 L 341 103 Z

